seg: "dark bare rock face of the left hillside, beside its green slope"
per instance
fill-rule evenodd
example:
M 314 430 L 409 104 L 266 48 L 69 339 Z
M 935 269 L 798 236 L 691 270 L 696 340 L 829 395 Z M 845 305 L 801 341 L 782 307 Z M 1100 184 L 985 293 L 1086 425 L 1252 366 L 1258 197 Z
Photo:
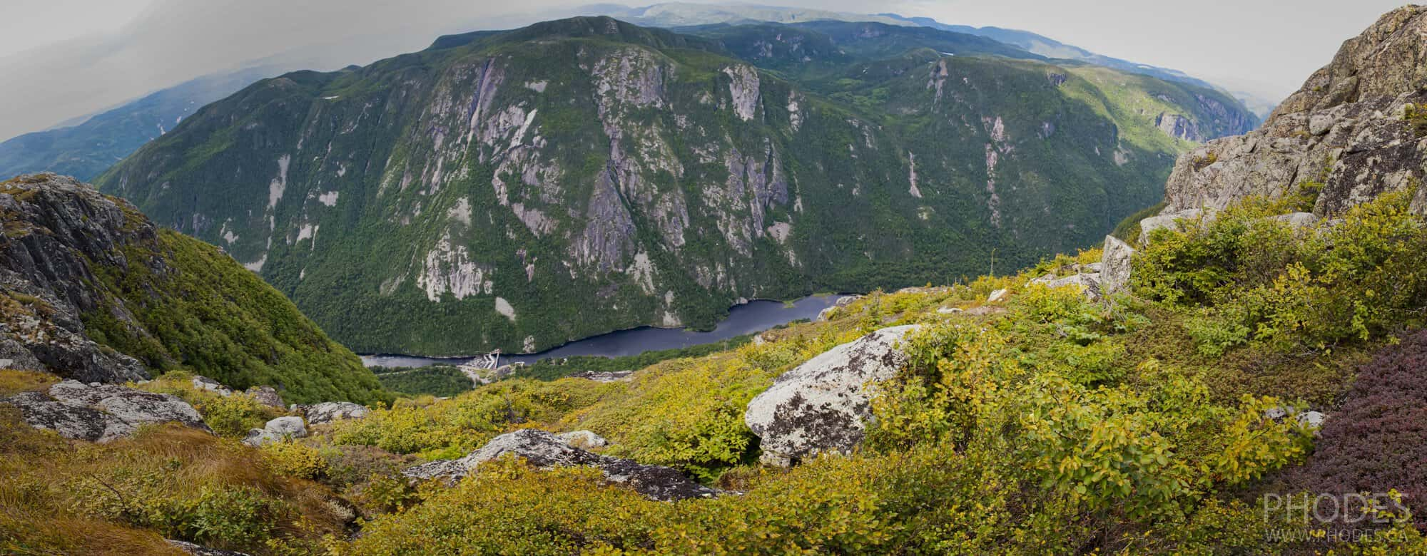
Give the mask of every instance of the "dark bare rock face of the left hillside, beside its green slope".
M 134 358 L 90 341 L 80 319 L 111 301 L 93 288 L 90 265 L 124 268 L 130 261 L 118 247 L 156 238 L 137 214 L 121 200 L 54 174 L 0 184 L 0 368 L 84 382 L 148 378 Z M 133 322 L 121 304 L 110 312 Z

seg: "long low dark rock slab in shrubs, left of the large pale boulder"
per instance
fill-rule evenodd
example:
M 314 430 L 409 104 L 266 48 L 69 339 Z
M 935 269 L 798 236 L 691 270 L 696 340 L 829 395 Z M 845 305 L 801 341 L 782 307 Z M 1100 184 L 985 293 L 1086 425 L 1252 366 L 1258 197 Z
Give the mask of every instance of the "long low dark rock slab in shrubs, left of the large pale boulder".
M 524 458 L 527 463 L 545 469 L 572 465 L 599 468 L 605 480 L 626 485 L 652 500 L 666 502 L 688 498 L 709 498 L 719 493 L 715 489 L 694 482 L 675 469 L 589 453 L 565 443 L 565 441 L 554 433 L 538 429 L 504 433 L 465 458 L 422 463 L 408 468 L 402 473 L 412 479 L 444 478 L 455 482 L 469 475 L 481 463 L 504 455 Z

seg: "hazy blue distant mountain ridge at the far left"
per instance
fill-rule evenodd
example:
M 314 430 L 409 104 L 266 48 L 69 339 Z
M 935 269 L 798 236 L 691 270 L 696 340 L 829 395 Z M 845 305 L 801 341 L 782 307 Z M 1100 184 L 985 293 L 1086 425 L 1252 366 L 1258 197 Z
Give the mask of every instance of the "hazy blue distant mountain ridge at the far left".
M 204 76 L 77 118 L 71 125 L 13 137 L 0 143 L 0 177 L 49 171 L 93 180 L 204 104 L 278 73 L 274 67 L 253 67 Z

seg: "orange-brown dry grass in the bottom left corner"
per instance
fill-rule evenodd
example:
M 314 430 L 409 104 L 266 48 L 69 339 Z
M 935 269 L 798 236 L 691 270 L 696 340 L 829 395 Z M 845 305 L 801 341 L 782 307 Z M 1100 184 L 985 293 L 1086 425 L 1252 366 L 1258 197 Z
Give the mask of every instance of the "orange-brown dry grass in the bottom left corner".
M 315 547 L 324 535 L 342 535 L 350 518 L 331 503 L 331 490 L 278 476 L 260 451 L 177 425 L 94 445 L 30 429 L 14 409 L 0 406 L 0 478 L 6 555 L 180 553 L 163 542 L 161 527 L 146 523 L 144 512 L 230 489 L 255 490 L 278 508 L 271 537 L 288 547 Z M 110 498 L 110 506 L 98 498 Z M 126 509 L 114 510 L 114 500 Z M 215 547 L 274 552 L 263 543 Z

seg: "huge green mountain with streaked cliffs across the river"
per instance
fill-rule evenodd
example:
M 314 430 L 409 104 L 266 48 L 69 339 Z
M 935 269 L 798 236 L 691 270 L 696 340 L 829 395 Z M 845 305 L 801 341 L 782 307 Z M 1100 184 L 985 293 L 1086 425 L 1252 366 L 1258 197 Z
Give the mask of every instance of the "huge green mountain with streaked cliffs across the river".
M 1029 264 L 1251 124 L 1213 90 L 983 37 L 595 17 L 260 81 L 97 184 L 357 351 L 537 351 Z

